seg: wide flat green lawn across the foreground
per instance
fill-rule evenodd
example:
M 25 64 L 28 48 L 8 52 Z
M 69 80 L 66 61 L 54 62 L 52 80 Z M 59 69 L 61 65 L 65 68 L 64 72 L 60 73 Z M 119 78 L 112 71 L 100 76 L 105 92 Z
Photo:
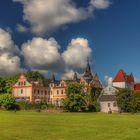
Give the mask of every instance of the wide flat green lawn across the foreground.
M 0 111 L 0 140 L 140 140 L 140 115 Z

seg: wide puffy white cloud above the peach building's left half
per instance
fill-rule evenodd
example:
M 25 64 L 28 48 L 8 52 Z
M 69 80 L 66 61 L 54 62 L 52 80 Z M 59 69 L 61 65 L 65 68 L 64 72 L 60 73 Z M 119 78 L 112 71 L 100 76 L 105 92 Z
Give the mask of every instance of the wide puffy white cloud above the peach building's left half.
M 60 46 L 54 38 L 33 38 L 22 45 L 22 53 L 31 69 L 54 70 L 63 69 L 63 61 L 59 53 Z

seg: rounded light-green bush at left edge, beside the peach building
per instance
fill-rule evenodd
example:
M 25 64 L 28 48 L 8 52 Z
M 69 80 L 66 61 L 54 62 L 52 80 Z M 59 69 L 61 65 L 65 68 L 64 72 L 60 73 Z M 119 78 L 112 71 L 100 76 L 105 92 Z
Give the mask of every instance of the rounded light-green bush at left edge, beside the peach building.
M 9 110 L 15 106 L 15 98 L 11 94 L 0 95 L 0 106 Z

